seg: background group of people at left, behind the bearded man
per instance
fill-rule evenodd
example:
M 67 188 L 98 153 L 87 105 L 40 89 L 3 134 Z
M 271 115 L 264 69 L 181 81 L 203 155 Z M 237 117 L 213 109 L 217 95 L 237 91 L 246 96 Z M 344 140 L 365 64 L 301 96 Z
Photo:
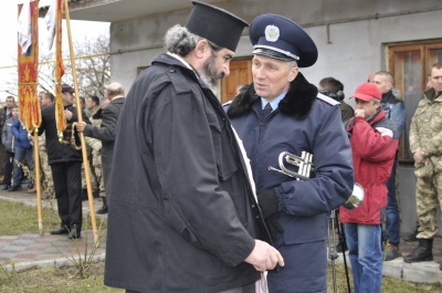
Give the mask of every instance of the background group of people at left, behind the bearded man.
M 83 157 L 78 145 L 78 133 L 85 130 L 88 163 L 94 178 L 94 196 L 103 199 L 96 212 L 107 213 L 105 181 L 112 163 L 112 148 L 120 106 L 125 101 L 124 88 L 118 83 L 106 86 L 106 97 L 95 95 L 80 97 L 82 122 L 78 122 L 75 91 L 62 85 L 62 101 L 66 127 L 60 138 L 55 118 L 55 96 L 50 92 L 39 93 L 42 123 L 39 129 L 39 159 L 43 198 L 55 198 L 61 218 L 60 228 L 52 234 L 69 234 L 70 239 L 81 237 L 82 200 L 85 191 Z M 118 98 L 118 102 L 110 102 Z M 117 104 L 115 108 L 114 104 Z M 17 191 L 28 182 L 28 192 L 35 192 L 33 137 L 19 118 L 19 106 L 14 97 L 8 96 L 1 112 L 2 148 L 4 156 L 3 190 Z M 87 125 L 86 129 L 84 125 Z M 99 136 L 95 133 L 106 133 Z M 102 143 L 104 147 L 102 146 Z M 102 172 L 102 164 L 105 171 Z

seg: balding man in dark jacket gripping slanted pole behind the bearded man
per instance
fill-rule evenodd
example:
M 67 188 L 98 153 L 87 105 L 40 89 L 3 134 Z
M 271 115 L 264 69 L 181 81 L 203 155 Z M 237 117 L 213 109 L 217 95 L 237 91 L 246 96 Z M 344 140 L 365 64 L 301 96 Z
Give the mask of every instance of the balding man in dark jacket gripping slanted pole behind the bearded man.
M 112 158 L 114 154 L 115 132 L 117 128 L 119 113 L 123 108 L 125 97 L 124 88 L 119 83 L 107 85 L 107 98 L 110 103 L 103 109 L 102 126 L 87 125 L 85 122 L 77 123 L 76 129 L 84 132 L 85 136 L 102 140 L 102 165 L 105 190 L 108 190 L 108 180 L 112 170 Z M 107 213 L 107 200 L 103 197 L 103 207 L 97 213 Z

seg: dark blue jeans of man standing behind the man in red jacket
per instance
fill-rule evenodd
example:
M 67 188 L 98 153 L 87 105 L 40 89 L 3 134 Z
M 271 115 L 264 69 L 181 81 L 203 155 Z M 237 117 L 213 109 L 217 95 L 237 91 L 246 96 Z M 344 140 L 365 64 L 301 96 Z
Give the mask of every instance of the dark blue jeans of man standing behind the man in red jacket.
M 396 198 L 396 169 L 398 167 L 398 154 L 396 154 L 390 178 L 387 181 L 387 208 L 386 208 L 386 240 L 399 247 L 400 242 L 400 219 L 399 208 Z

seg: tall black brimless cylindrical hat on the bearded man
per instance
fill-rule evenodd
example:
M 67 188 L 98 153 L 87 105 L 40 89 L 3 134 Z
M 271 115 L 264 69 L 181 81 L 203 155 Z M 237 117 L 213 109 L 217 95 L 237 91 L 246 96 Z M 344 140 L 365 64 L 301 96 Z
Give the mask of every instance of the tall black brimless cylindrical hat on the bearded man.
M 186 28 L 221 48 L 235 51 L 242 31 L 249 23 L 232 13 L 203 2 L 192 1 L 194 6 Z

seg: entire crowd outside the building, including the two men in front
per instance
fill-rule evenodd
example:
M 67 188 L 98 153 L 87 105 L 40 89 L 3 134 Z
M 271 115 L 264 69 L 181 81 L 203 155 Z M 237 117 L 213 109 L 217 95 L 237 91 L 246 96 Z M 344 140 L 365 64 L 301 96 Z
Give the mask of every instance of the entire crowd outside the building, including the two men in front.
M 326 292 L 328 223 L 338 210 L 356 292 L 380 292 L 382 262 L 401 255 L 397 168 L 407 114 L 393 76 L 370 73 L 350 96 L 352 108 L 340 81 L 324 77 L 316 86 L 299 71 L 318 51 L 292 20 L 263 14 L 249 25 L 192 3 L 186 25 L 167 31 L 167 52 L 127 98 L 110 83 L 106 102 L 78 97 L 78 119 L 75 91 L 62 86 L 62 140 L 54 96 L 40 93 L 43 184 L 61 219 L 51 233 L 81 237 L 85 182 L 75 138 L 83 133 L 103 200 L 97 212 L 108 212 L 105 284 L 126 292 Z M 219 81 L 230 74 L 246 27 L 253 83 L 221 105 Z M 442 206 L 442 64 L 432 66 L 429 84 L 410 127 L 419 245 L 406 262 L 433 260 Z M 29 172 L 34 164 L 13 97 L 0 126 L 3 189 L 14 191 L 24 160 Z M 292 159 L 292 170 L 270 170 L 281 158 Z M 347 209 L 355 184 L 365 198 Z

